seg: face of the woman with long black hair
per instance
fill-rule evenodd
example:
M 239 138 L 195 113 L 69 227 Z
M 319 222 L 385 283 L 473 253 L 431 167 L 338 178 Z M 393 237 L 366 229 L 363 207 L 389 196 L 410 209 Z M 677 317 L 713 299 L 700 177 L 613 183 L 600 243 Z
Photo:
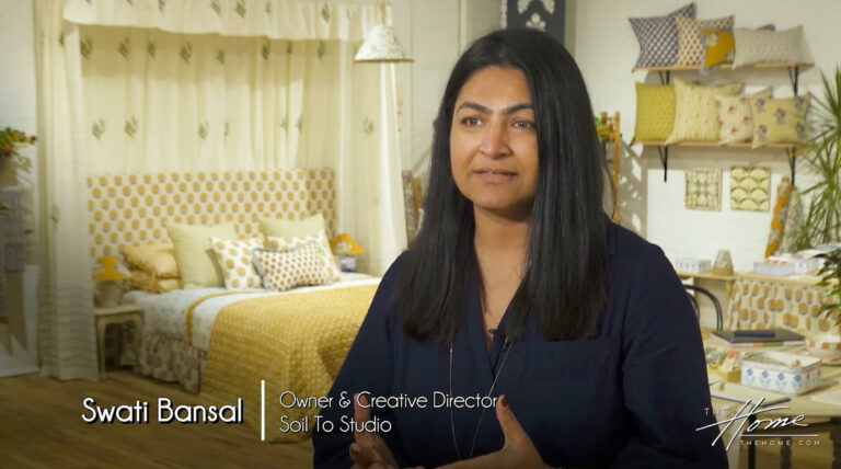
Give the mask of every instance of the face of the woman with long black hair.
M 485 67 L 461 87 L 450 165 L 476 210 L 523 219 L 538 186 L 538 135 L 529 83 L 517 68 Z

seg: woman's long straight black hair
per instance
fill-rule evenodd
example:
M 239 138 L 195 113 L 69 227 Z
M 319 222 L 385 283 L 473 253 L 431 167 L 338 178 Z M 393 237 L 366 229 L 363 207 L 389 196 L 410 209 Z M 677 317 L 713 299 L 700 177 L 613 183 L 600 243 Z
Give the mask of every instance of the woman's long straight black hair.
M 472 203 L 452 179 L 450 127 L 461 87 L 488 66 L 523 72 L 538 138 L 527 272 L 507 317 L 508 335 L 519 336 L 526 316 L 532 313 L 545 340 L 585 339 L 596 333 L 608 295 L 603 150 L 572 56 L 548 34 L 525 28 L 477 39 L 447 82 L 435 119 L 423 227 L 396 283 L 403 329 L 419 340 L 449 342 L 466 309 L 476 268 L 475 222 Z

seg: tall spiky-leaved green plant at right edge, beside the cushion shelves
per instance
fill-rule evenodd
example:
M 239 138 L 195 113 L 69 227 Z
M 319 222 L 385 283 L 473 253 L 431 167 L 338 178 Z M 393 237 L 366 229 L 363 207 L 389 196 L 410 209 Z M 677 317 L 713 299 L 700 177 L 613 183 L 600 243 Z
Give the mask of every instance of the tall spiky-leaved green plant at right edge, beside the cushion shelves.
M 814 100 L 814 137 L 804 158 L 818 180 L 804 191 L 811 194 L 811 202 L 803 226 L 796 231 L 797 250 L 841 240 L 841 67 L 836 68 L 833 76 L 821 77 L 823 99 Z

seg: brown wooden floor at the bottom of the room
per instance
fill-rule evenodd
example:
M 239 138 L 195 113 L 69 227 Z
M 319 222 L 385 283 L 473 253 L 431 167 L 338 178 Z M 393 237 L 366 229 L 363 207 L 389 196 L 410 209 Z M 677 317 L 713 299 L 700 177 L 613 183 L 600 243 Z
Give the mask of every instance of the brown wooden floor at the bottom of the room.
M 310 442 L 262 444 L 245 425 L 226 424 L 85 424 L 82 400 L 100 405 L 134 404 L 172 399 L 174 404 L 197 403 L 176 385 L 112 371 L 101 382 L 58 381 L 35 375 L 0 379 L 0 467 L 5 468 L 309 468 Z M 154 420 L 151 419 L 150 420 Z M 809 438 L 813 439 L 813 438 Z M 829 434 L 820 446 L 792 447 L 792 467 L 831 466 Z M 796 443 L 796 442 L 795 442 Z M 738 444 L 738 442 L 734 443 Z M 759 446 L 757 468 L 780 466 L 779 447 Z M 739 468 L 747 468 L 742 447 Z

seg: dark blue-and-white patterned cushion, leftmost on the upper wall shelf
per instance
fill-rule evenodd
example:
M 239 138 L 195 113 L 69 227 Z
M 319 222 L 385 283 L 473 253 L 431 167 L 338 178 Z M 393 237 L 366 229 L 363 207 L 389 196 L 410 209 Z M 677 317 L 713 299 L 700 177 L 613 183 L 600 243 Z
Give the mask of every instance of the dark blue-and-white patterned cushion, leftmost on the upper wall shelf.
M 666 16 L 627 19 L 640 43 L 637 67 L 675 65 L 678 54 L 676 16 L 695 18 L 695 3 L 692 2 Z

